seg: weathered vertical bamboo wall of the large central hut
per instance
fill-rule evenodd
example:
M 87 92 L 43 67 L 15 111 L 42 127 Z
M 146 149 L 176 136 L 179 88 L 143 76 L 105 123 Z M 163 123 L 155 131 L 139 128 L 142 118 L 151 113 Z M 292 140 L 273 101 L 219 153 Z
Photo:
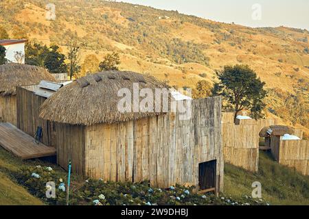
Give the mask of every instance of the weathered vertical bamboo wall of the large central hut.
M 222 190 L 220 112 L 220 97 L 194 100 L 189 120 L 179 120 L 179 113 L 170 113 L 126 123 L 93 125 L 85 127 L 84 138 L 75 143 L 70 141 L 82 133 L 67 126 L 60 131 L 66 132 L 65 136 L 59 138 L 57 134 L 58 162 L 67 166 L 68 157 L 62 154 L 71 153 L 76 156 L 73 163 L 79 162 L 77 172 L 84 171 L 89 177 L 105 181 L 150 180 L 154 186 L 168 187 L 175 183 L 198 185 L 198 164 L 216 159 L 216 187 Z M 78 149 L 69 145 L 77 145 Z

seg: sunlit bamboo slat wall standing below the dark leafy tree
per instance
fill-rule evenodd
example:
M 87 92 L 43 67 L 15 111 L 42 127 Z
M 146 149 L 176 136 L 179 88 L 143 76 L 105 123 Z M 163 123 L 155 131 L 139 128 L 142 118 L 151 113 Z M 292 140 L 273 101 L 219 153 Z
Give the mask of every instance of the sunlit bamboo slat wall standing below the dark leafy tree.
M 258 171 L 259 133 L 269 125 L 278 125 L 279 120 L 237 120 L 233 112 L 222 113 L 222 142 L 225 162 L 251 172 Z

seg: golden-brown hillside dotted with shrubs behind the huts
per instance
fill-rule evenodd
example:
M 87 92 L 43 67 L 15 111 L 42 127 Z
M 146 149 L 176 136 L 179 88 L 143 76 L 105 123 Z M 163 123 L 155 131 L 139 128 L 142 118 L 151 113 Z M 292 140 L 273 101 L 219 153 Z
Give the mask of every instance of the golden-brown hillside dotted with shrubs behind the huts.
M 56 21 L 45 19 L 55 3 Z M 266 82 L 268 112 L 309 128 L 309 32 L 251 28 L 176 11 L 109 1 L 4 0 L 0 25 L 15 38 L 60 44 L 78 35 L 82 61 L 117 51 L 121 70 L 154 75 L 176 88 L 216 81 L 226 64 L 249 64 Z

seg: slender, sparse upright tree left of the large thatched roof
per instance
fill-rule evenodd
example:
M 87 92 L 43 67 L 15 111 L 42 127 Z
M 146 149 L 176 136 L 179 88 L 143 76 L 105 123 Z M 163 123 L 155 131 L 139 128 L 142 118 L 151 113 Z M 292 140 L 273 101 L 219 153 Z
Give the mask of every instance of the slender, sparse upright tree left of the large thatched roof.
M 69 53 L 67 59 L 69 60 L 69 75 L 70 80 L 73 76 L 78 76 L 80 72 L 80 47 L 76 36 L 71 36 L 68 42 Z

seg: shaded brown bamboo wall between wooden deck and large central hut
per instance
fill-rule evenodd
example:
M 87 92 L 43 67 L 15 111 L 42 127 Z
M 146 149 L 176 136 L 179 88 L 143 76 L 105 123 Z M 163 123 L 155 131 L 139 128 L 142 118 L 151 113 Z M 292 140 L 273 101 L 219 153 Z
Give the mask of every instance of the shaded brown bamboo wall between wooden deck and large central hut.
M 36 86 L 17 87 L 17 127 L 34 136 L 38 126 L 43 128 L 42 142 L 47 146 L 53 145 L 53 124 L 39 118 L 39 107 L 46 100 L 32 92 Z

